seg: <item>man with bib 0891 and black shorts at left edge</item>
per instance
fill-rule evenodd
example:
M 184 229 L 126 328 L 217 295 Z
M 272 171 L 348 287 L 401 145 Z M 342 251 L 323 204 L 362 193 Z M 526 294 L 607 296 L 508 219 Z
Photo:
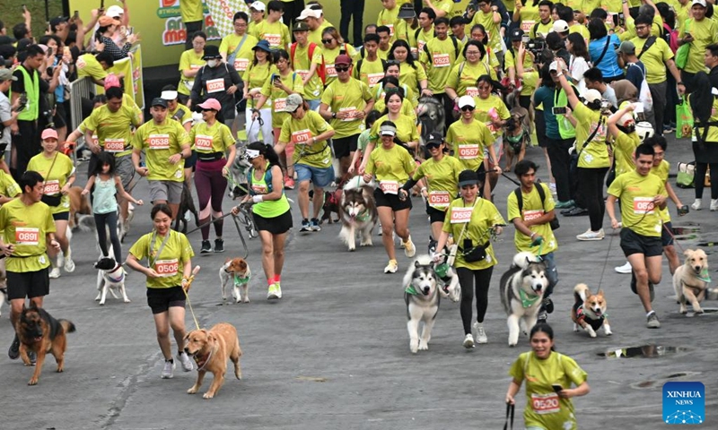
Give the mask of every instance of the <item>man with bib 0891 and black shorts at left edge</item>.
M 47 251 L 60 252 L 55 239 L 55 223 L 47 204 L 40 202 L 45 180 L 35 171 L 22 174 L 18 185 L 22 195 L 0 208 L 0 251 L 7 257 L 7 300 L 10 301 L 10 322 L 15 324 L 30 299 L 31 306 L 42 307 L 43 297 L 50 292 Z M 10 359 L 20 357 L 17 335 L 8 351 Z M 28 363 L 29 364 L 29 363 Z

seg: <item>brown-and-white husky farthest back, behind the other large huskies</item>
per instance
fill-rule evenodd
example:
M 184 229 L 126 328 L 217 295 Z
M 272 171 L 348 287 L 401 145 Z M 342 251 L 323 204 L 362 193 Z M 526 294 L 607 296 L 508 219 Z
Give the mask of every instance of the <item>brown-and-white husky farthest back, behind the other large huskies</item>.
M 379 215 L 374 202 L 374 192 L 369 185 L 344 189 L 339 201 L 339 220 L 342 230 L 339 237 L 349 251 L 356 249 L 356 232 L 362 234 L 361 246 L 372 246 L 372 230 Z

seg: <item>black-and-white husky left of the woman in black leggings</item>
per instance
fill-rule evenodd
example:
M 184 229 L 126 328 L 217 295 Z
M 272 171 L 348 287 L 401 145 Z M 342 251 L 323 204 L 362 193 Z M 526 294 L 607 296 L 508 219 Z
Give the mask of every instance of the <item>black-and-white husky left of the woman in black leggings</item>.
M 409 349 L 416 354 L 418 350 L 429 348 L 433 323 L 439 313 L 441 295 L 438 291 L 436 272 L 433 271 L 429 255 L 419 255 L 404 275 L 404 301 L 407 303 L 407 330 L 409 331 Z M 424 328 L 419 339 L 419 323 Z

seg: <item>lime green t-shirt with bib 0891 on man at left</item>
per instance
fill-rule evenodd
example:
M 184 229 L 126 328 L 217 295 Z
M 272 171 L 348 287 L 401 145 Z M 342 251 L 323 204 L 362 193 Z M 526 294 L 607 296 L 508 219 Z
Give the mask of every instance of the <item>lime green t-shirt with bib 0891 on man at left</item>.
M 27 206 L 22 198 L 6 202 L 0 208 L 0 231 L 4 244 L 15 245 L 13 255 L 5 259 L 7 271 L 40 271 L 50 265 L 46 235 L 55 232 L 55 221 L 47 204 Z

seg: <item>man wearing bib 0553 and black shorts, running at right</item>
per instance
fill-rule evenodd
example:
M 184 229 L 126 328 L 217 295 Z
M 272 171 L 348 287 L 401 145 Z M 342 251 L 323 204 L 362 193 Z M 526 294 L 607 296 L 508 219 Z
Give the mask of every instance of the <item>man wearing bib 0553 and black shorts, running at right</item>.
M 631 289 L 644 305 L 649 329 L 661 327 L 652 309 L 653 285 L 661 282 L 662 220 L 666 208 L 666 187 L 651 173 L 655 150 L 643 143 L 635 149 L 635 170 L 617 176 L 609 186 L 606 209 L 612 228 L 621 228 L 621 249 L 631 263 L 635 282 Z M 621 224 L 616 219 L 616 201 L 621 202 Z

